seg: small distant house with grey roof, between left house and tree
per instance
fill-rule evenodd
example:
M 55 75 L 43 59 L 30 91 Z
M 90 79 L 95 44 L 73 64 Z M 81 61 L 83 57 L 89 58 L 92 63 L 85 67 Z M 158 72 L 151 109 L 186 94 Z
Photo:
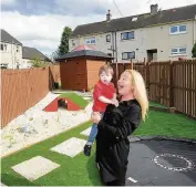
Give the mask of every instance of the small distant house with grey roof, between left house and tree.
M 21 64 L 21 69 L 31 67 L 32 66 L 31 62 L 33 60 L 39 60 L 39 61 L 48 62 L 48 63 L 51 62 L 51 60 L 49 58 L 47 58 L 43 53 L 41 53 L 35 48 L 23 46 L 22 48 L 22 64 Z

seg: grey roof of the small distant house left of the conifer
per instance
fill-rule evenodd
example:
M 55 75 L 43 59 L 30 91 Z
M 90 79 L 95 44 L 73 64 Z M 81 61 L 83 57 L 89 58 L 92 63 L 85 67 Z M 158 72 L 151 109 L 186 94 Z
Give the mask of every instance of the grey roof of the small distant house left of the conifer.
M 42 61 L 51 61 L 49 58 L 47 58 L 43 53 L 38 51 L 35 48 L 29 48 L 29 46 L 23 46 L 22 48 L 22 59 L 29 59 L 29 60 L 34 60 L 34 59 L 40 59 Z

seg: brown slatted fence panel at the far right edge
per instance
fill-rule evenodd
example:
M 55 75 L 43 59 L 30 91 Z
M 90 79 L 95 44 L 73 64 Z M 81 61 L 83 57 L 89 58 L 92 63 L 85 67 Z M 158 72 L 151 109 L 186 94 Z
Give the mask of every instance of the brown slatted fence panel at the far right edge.
M 196 117 L 196 61 L 174 62 L 174 106 Z

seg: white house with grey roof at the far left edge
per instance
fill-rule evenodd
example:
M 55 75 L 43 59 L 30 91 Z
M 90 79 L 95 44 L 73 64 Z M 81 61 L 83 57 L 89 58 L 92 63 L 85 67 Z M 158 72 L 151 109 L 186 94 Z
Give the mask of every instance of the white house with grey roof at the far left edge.
M 22 43 L 10 35 L 7 31 L 1 31 L 1 69 L 18 69 L 22 62 Z

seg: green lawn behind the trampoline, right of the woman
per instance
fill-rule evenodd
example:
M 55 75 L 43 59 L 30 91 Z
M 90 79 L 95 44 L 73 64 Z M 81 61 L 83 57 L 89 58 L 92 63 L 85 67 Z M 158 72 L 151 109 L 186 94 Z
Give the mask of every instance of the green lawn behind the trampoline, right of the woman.
M 146 122 L 142 123 L 134 135 L 164 135 L 196 139 L 196 121 L 185 115 L 149 111 Z

